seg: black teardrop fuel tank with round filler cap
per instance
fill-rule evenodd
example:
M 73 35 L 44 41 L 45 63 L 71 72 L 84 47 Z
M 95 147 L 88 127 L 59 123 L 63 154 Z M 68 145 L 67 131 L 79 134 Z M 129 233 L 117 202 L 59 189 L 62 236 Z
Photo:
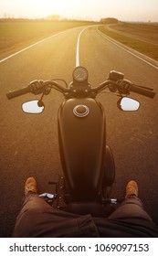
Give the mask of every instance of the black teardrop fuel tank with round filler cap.
M 105 116 L 100 102 L 68 99 L 58 110 L 61 163 L 74 200 L 99 197 L 105 153 Z

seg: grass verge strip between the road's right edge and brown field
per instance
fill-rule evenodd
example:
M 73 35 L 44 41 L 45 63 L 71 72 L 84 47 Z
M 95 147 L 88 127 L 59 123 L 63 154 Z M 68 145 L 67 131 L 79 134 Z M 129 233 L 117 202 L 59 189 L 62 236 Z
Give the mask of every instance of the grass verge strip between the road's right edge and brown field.
M 139 25 L 138 25 L 139 26 Z M 135 27 L 136 29 L 136 27 Z M 156 27 L 157 29 L 157 27 Z M 126 45 L 129 48 L 133 48 L 139 52 L 141 52 L 142 54 L 158 60 L 158 46 L 150 43 L 150 42 L 144 42 L 141 39 L 137 39 L 134 37 L 130 37 L 130 36 L 125 36 L 125 35 L 121 35 L 119 32 L 117 33 L 116 30 L 111 30 L 108 27 L 102 26 L 99 27 L 99 30 L 104 33 L 105 35 L 114 38 L 115 40 L 121 42 L 122 44 Z M 130 33 L 129 30 L 125 30 L 123 29 L 123 32 L 127 31 L 128 33 Z M 138 33 L 138 31 L 137 31 Z M 153 31 L 154 33 L 154 31 Z M 156 33 L 156 32 L 155 32 Z M 135 32 L 136 34 L 136 32 Z M 147 32 L 145 33 L 145 37 L 147 37 Z

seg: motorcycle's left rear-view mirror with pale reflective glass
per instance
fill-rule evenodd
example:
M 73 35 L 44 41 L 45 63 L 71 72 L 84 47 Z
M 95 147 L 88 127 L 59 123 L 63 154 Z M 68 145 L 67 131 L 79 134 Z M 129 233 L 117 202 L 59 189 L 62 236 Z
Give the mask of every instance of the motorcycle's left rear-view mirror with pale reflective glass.
M 27 101 L 22 104 L 22 110 L 26 113 L 41 113 L 44 111 L 43 101 Z

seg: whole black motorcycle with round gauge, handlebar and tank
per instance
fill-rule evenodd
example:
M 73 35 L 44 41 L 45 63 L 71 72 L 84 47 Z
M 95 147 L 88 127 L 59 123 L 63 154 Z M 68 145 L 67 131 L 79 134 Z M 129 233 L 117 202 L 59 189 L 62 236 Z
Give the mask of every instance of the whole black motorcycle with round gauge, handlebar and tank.
M 6 96 L 10 100 L 28 92 L 41 94 L 39 100 L 22 104 L 24 112 L 41 113 L 45 109 L 43 98 L 51 90 L 64 95 L 65 101 L 58 109 L 58 144 L 64 177 L 50 183 L 55 186 L 53 194 L 43 193 L 39 197 L 46 198 L 53 207 L 73 213 L 109 215 L 114 208 L 107 210 L 107 205 L 116 205 L 122 198 L 110 198 L 115 164 L 106 143 L 105 113 L 96 97 L 102 91 L 117 95 L 118 108 L 126 112 L 140 108 L 140 102 L 129 97 L 132 91 L 150 98 L 155 92 L 125 80 L 124 74 L 115 70 L 97 87 L 90 85 L 88 70 L 82 66 L 73 70 L 72 77 L 69 85 L 62 79 L 33 80 Z

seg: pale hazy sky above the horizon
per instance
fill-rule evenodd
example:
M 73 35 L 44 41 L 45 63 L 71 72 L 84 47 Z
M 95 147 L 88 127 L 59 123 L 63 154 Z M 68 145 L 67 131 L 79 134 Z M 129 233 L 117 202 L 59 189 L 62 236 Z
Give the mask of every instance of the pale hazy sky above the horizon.
M 0 17 L 38 18 L 49 15 L 158 22 L 158 0 L 0 0 Z

